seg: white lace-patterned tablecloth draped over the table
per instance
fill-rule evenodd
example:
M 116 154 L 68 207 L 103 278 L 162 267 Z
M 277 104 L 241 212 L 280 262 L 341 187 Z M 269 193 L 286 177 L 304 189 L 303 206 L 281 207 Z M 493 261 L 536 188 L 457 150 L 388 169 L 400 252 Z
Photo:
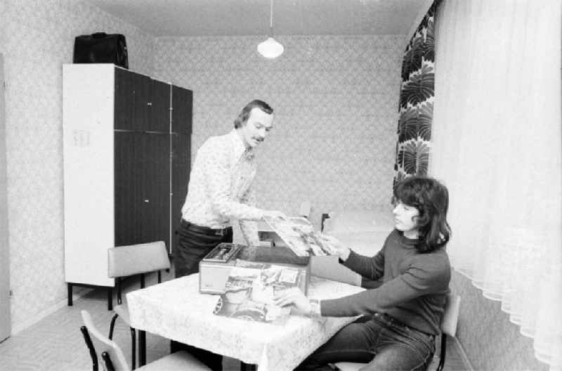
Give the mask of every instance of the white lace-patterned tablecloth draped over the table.
M 313 277 L 308 297 L 332 299 L 362 290 Z M 198 274 L 129 292 L 126 298 L 132 327 L 257 364 L 258 371 L 293 370 L 354 319 L 291 315 L 274 325 L 214 315 L 218 295 L 200 294 Z

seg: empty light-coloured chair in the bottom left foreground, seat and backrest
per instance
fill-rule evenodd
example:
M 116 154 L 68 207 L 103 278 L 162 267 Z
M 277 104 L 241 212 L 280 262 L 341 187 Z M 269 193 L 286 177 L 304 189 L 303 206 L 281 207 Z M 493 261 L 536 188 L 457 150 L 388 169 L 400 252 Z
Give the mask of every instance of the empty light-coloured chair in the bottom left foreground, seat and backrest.
M 129 371 L 131 368 L 125 360 L 121 348 L 115 341 L 105 337 L 93 324 L 93 320 L 88 311 L 81 311 L 84 325 L 80 327 L 86 346 L 92 359 L 93 371 L 98 371 L 99 363 L 102 364 L 104 371 Z M 94 345 L 95 344 L 95 345 Z M 101 359 L 98 358 L 98 352 Z M 141 371 L 211 371 L 209 367 L 201 363 L 190 353 L 178 351 L 148 363 L 138 370 Z

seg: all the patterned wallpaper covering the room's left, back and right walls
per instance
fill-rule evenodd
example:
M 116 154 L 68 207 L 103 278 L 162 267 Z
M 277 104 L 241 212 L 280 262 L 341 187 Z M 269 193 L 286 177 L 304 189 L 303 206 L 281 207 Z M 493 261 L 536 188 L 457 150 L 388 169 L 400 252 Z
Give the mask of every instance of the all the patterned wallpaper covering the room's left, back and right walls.
M 0 1 L 0 27 L 14 330 L 66 297 L 61 65 L 78 34 L 125 34 L 131 70 L 192 89 L 194 149 L 230 130 L 249 100 L 273 105 L 275 129 L 258 157 L 263 207 L 295 214 L 310 200 L 318 224 L 322 212 L 391 195 L 401 36 L 280 36 L 285 54 L 265 60 L 255 52 L 262 38 L 153 39 L 73 0 Z M 457 335 L 475 370 L 546 370 L 497 302 L 458 273 L 451 288 L 462 296 Z

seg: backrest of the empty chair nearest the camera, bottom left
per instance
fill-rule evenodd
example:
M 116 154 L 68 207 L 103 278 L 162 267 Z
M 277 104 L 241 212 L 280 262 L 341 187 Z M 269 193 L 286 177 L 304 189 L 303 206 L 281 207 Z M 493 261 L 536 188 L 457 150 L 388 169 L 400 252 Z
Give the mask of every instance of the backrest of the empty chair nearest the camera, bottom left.
M 110 340 L 96 328 L 93 324 L 90 313 L 84 310 L 80 311 L 80 313 L 82 315 L 82 320 L 84 321 L 87 334 L 89 334 L 89 339 L 91 339 L 91 344 L 87 344 L 88 341 L 86 340 L 86 345 L 89 348 L 92 361 L 94 363 L 101 363 L 103 365 L 103 370 L 107 370 L 104 360 L 102 359 L 102 355 L 105 352 L 111 359 L 115 371 L 130 371 L 131 368 L 125 360 L 123 351 L 119 348 L 115 341 Z M 86 334 L 84 334 L 84 337 L 86 337 Z M 91 346 L 93 346 L 93 349 L 91 349 Z M 94 360 L 94 357 L 97 359 Z

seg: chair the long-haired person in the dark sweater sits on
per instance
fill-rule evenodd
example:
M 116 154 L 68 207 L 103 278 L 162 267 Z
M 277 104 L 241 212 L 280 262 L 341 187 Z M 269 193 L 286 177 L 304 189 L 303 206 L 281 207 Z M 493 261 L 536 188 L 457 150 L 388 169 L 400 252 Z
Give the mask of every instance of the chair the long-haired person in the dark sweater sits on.
M 441 318 L 441 347 L 439 352 L 439 365 L 436 371 L 442 371 L 445 365 L 445 356 L 447 349 L 447 336 L 455 337 L 457 334 L 457 323 L 459 321 L 461 297 L 455 294 L 447 294 L 447 302 L 445 303 L 445 310 L 443 311 L 443 318 Z M 334 369 L 337 371 L 358 371 L 367 363 L 355 362 L 338 362 L 334 364 Z

